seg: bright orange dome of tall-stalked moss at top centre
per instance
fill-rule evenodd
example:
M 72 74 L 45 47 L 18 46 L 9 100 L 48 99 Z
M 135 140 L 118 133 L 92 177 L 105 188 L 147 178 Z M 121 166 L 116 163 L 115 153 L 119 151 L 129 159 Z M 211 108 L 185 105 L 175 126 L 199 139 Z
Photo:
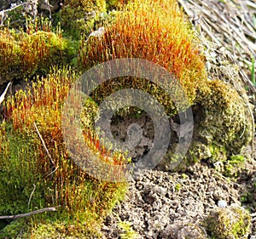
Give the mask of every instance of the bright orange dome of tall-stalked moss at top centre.
M 207 80 L 204 60 L 196 42 L 176 1 L 135 0 L 116 14 L 104 36 L 84 39 L 80 62 L 85 70 L 120 58 L 139 58 L 165 67 L 177 78 L 189 102 L 175 94 L 173 98 L 177 98 L 177 105 L 174 105 L 173 98 L 163 88 L 136 77 L 119 77 L 102 83 L 96 101 L 101 102 L 102 98 L 121 88 L 138 88 L 153 95 L 172 115 L 177 108 L 182 110 L 193 104 L 196 89 Z M 169 88 L 174 88 L 172 83 L 168 84 L 171 84 Z

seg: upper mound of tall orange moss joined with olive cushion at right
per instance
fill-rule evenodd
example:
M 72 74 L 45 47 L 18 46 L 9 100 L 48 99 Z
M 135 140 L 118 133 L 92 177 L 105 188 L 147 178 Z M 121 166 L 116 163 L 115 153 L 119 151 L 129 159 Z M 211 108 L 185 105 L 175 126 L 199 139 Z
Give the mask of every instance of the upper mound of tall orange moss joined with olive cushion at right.
M 86 38 L 80 49 L 80 62 L 85 70 L 108 60 L 140 58 L 174 74 L 189 105 L 185 105 L 185 100 L 184 105 L 174 105 L 162 88 L 136 77 L 119 77 L 102 83 L 94 99 L 101 103 L 104 97 L 119 89 L 139 88 L 153 95 L 170 116 L 192 106 L 195 128 L 189 154 L 174 170 L 185 169 L 201 160 L 229 164 L 228 160 L 241 154 L 253 136 L 247 97 L 242 98 L 229 83 L 207 79 L 194 33 L 175 1 L 131 1 L 101 37 Z M 176 146 L 170 147 L 160 169 L 173 170 L 178 157 L 173 156 Z

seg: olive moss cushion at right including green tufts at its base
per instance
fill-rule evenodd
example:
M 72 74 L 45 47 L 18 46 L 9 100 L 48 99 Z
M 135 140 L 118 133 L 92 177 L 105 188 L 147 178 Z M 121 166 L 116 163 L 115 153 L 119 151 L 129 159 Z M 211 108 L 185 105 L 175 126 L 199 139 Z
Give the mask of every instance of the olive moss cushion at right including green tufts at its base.
M 247 100 L 229 84 L 212 80 L 199 88 L 196 102 L 195 134 L 187 156 L 189 161 L 193 162 L 197 157 L 198 161 L 207 160 L 213 165 L 220 163 L 223 172 L 226 164 L 226 173 L 233 174 L 229 173 L 232 161 L 239 157 L 253 137 Z M 199 149 L 198 145 L 204 147 Z M 236 166 L 242 167 L 242 163 Z

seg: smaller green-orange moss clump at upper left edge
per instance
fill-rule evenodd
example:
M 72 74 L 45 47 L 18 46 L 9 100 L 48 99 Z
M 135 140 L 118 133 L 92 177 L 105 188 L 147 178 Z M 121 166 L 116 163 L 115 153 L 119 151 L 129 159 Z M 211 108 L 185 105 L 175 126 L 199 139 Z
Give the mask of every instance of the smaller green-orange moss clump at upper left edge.
M 52 65 L 67 65 L 75 50 L 61 32 L 41 31 L 39 23 L 27 31 L 0 31 L 0 84 L 49 73 Z

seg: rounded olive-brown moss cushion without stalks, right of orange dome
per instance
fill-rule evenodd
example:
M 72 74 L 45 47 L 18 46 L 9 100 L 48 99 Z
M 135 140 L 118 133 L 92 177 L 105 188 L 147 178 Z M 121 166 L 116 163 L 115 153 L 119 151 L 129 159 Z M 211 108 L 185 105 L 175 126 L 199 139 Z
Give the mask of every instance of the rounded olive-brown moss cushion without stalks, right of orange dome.
M 252 139 L 246 100 L 229 84 L 214 80 L 207 83 L 207 88 L 200 88 L 197 102 L 205 111 L 199 134 L 202 138 L 204 134 L 212 135 L 212 142 L 208 141 L 212 151 L 227 152 L 228 157 L 239 154 L 242 146 Z

